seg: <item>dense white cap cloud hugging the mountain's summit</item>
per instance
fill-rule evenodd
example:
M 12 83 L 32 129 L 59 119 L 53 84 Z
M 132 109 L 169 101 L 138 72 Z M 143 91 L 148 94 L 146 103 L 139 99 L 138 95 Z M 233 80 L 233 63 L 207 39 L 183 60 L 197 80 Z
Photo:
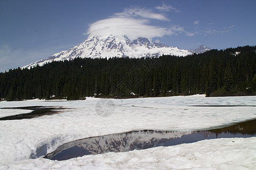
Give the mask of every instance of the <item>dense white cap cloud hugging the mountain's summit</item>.
M 129 39 L 137 39 L 138 37 L 162 37 L 171 35 L 172 31 L 167 28 L 161 28 L 153 25 L 147 25 L 147 20 L 133 18 L 108 18 L 99 20 L 90 25 L 89 36 L 118 36 L 126 35 Z

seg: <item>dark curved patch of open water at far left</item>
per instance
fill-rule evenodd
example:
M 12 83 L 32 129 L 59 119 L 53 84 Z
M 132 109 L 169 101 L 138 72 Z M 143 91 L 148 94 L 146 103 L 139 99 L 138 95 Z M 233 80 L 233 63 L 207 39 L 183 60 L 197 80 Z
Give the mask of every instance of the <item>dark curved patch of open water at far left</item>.
M 0 109 L 25 109 L 25 110 L 32 111 L 30 113 L 0 117 L 0 121 L 1 121 L 1 120 L 21 120 L 23 118 L 34 118 L 34 117 L 39 117 L 44 115 L 51 115 L 51 114 L 59 113 L 57 109 L 61 109 L 61 108 L 32 106 L 32 107 L 15 107 L 15 108 L 0 108 Z

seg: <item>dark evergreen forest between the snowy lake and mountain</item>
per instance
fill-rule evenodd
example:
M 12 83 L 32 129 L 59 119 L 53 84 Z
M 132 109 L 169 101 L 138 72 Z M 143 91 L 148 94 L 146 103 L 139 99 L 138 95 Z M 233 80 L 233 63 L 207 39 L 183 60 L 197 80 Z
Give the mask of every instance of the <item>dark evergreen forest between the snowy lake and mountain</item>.
M 0 99 L 256 95 L 255 52 L 243 46 L 186 57 L 53 61 L 0 73 Z

